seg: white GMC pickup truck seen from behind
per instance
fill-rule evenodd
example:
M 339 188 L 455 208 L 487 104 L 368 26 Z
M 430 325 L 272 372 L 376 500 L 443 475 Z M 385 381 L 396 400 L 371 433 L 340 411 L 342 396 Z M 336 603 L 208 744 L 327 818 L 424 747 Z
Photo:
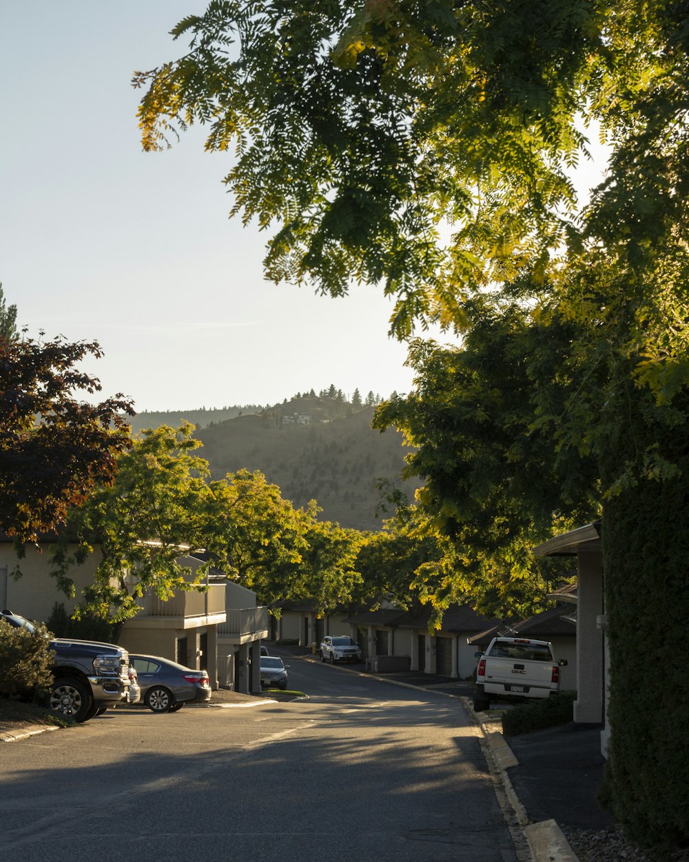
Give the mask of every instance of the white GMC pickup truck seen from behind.
M 493 638 L 485 653 L 475 653 L 476 668 L 474 709 L 480 712 L 496 700 L 549 697 L 560 690 L 559 661 L 548 640 L 528 638 Z

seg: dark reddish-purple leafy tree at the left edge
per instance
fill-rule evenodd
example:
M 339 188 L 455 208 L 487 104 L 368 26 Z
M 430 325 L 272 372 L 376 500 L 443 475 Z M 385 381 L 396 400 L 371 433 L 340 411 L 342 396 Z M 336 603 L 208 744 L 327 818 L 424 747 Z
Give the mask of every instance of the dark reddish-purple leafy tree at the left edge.
M 129 446 L 127 399 L 78 398 L 101 390 L 77 367 L 88 355 L 102 355 L 96 341 L 0 338 L 0 525 L 22 542 L 109 483 Z

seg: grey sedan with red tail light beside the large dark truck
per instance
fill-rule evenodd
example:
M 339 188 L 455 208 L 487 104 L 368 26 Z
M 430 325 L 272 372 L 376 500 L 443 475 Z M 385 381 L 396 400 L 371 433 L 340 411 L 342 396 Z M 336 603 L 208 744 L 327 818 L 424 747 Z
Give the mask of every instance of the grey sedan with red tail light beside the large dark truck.
M 206 671 L 195 671 L 159 655 L 129 654 L 141 698 L 153 712 L 177 712 L 185 703 L 207 703 L 211 688 Z

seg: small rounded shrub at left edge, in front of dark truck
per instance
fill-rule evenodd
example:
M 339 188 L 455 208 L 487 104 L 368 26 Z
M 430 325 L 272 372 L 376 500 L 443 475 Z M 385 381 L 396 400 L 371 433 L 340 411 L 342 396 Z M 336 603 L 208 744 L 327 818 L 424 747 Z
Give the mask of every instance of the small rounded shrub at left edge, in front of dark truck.
M 53 682 L 50 668 L 55 653 L 48 643 L 49 634 L 42 624 L 30 632 L 0 620 L 0 694 L 16 697 Z

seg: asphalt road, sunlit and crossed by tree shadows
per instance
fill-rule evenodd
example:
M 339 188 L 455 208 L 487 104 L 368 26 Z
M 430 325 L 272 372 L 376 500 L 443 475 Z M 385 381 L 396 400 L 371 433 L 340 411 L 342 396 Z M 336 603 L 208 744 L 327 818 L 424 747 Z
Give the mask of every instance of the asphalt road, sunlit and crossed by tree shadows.
M 514 862 L 460 701 L 285 660 L 308 699 L 109 710 L 3 745 L 3 858 Z

